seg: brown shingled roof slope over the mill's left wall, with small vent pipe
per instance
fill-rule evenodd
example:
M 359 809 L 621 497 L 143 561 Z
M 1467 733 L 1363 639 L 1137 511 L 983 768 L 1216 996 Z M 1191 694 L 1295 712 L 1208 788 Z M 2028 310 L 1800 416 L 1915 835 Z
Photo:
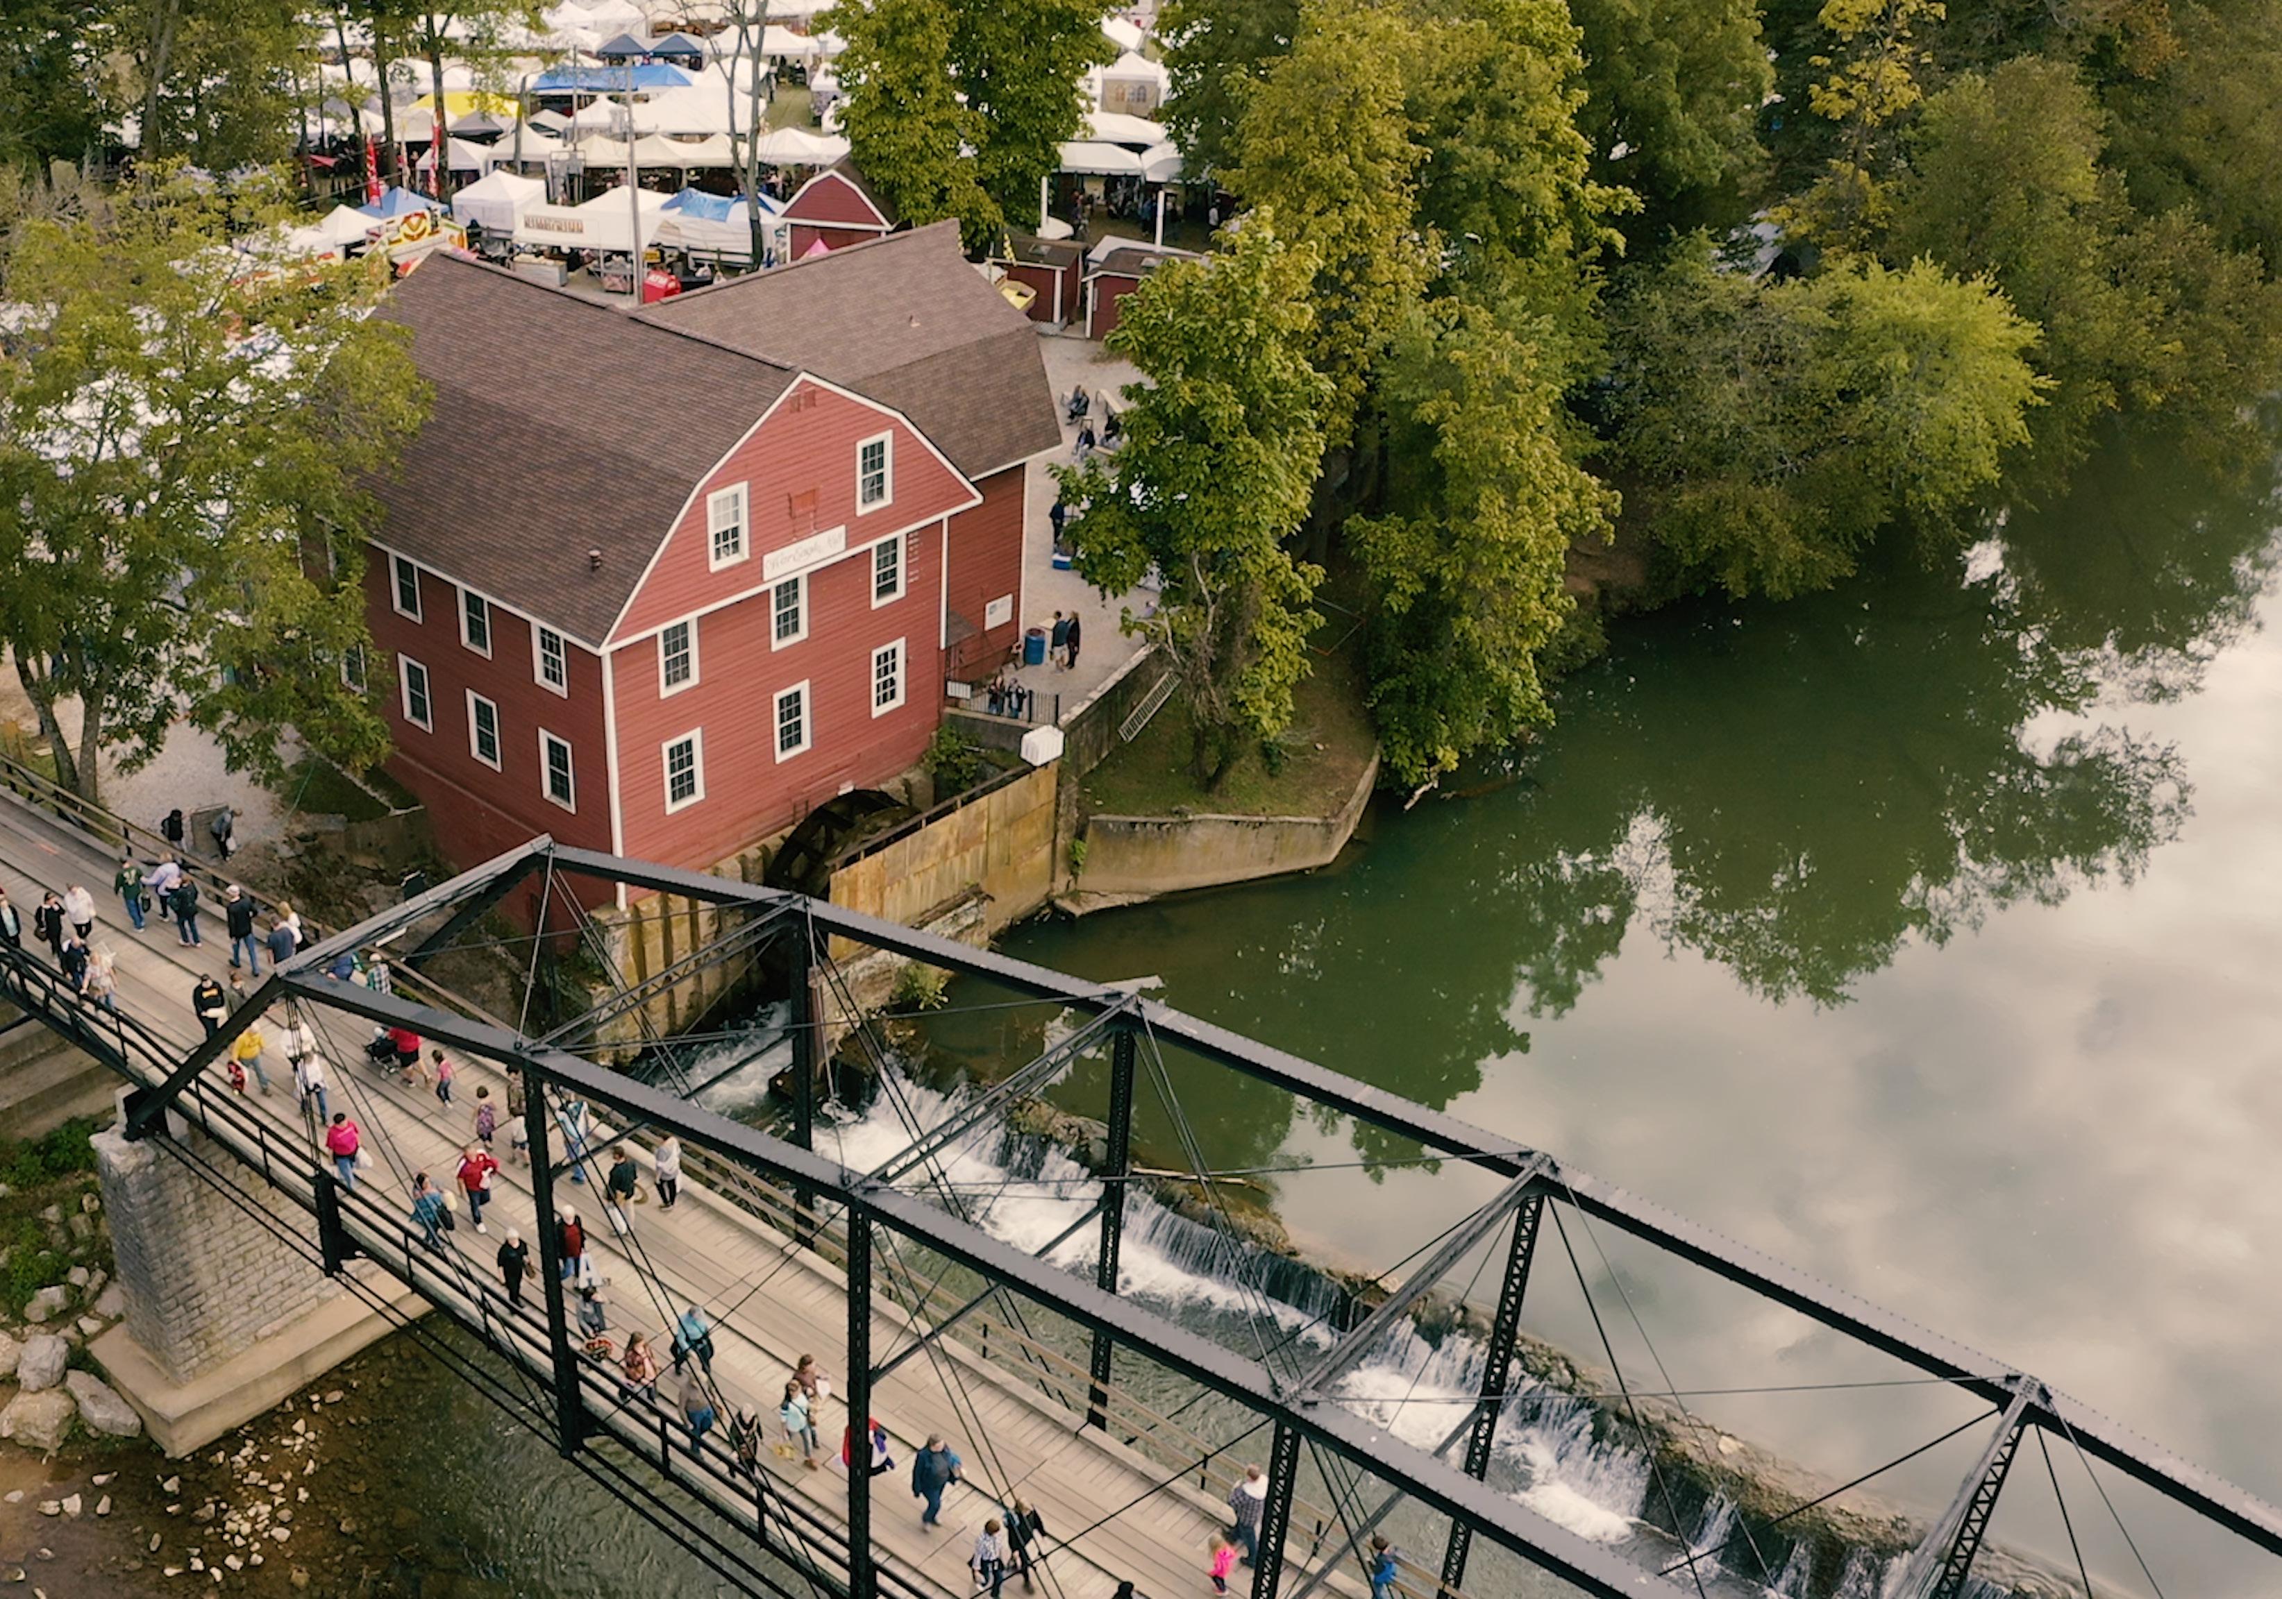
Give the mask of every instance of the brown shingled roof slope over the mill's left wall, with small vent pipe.
M 377 484 L 383 543 L 593 646 L 689 493 L 796 376 L 445 251 L 379 315 L 413 331 L 436 390 Z

